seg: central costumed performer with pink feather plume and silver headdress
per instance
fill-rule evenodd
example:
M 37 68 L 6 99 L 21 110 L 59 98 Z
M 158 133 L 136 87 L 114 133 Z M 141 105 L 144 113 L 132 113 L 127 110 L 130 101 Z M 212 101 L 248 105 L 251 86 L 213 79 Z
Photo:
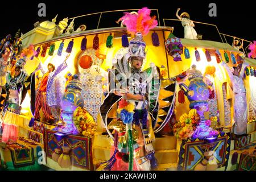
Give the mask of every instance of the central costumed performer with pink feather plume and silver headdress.
M 110 137 L 113 136 L 109 129 L 115 131 L 115 151 L 105 170 L 149 171 L 156 167 L 156 159 L 152 146 L 155 136 L 148 114 L 148 105 L 153 104 L 148 93 L 152 89 L 152 82 L 159 80 L 154 64 L 146 71 L 141 71 L 143 59 L 146 58 L 146 44 L 142 38 L 158 23 L 155 16 L 151 18 L 150 10 L 147 8 L 135 14 L 125 13 L 121 20 L 127 26 L 127 31 L 135 34 L 135 38 L 130 41 L 128 53 L 121 59 L 113 60 L 115 69 L 109 72 L 110 92 L 100 107 L 102 119 L 106 121 L 106 111 L 110 110 L 113 104 L 118 105 L 118 110 L 115 110 L 118 113 L 117 118 L 110 123 L 105 122 Z M 122 111 L 124 108 L 125 112 Z M 130 118 L 128 123 L 125 122 L 125 118 L 132 115 L 133 118 Z M 132 137 L 128 134 L 129 130 L 132 131 Z M 130 156 L 133 154 L 134 157 L 131 159 Z

